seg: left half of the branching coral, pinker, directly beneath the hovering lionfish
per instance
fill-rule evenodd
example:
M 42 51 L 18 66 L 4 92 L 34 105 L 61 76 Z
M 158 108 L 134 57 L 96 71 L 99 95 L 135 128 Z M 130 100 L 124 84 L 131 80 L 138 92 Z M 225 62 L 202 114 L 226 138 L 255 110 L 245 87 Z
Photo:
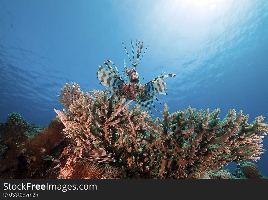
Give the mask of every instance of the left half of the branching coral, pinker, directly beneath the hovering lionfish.
M 97 146 L 114 153 L 119 166 L 126 167 L 129 174 L 146 170 L 139 157 L 146 131 L 153 127 L 147 123 L 150 117 L 145 111 L 135 107 L 129 112 L 132 101 L 125 104 L 125 99 L 116 100 L 115 95 L 108 99 L 107 90 L 84 94 L 75 83 L 72 87 L 66 84 L 59 97 L 66 110 L 55 111 L 66 127 L 67 137 L 78 147 L 85 139 L 97 139 Z

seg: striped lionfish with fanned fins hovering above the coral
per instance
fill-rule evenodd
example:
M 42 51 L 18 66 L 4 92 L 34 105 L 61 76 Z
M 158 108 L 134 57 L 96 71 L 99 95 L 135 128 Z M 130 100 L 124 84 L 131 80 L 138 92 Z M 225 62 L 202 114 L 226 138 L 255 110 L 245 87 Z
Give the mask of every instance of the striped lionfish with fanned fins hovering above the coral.
M 123 41 L 122 44 L 129 57 L 129 53 Z M 167 88 L 164 79 L 166 77 L 174 77 L 176 76 L 176 74 L 163 75 L 166 72 L 162 72 L 155 79 L 142 85 L 141 82 L 143 81 L 144 77 L 142 79 L 139 79 L 139 74 L 136 71 L 136 68 L 139 65 L 141 59 L 143 58 L 143 55 L 145 54 L 149 44 L 147 45 L 145 51 L 143 52 L 143 55 L 141 56 L 141 52 L 143 49 L 143 41 L 137 42 L 136 40 L 135 58 L 134 58 L 134 40 L 131 40 L 131 46 L 132 46 L 132 60 L 130 59 L 130 57 L 129 60 L 131 62 L 132 68 L 129 70 L 124 60 L 124 69 L 121 73 L 124 79 L 118 72 L 118 69 L 115 66 L 115 64 L 111 60 L 107 60 L 106 62 L 104 62 L 104 65 L 106 65 L 108 69 L 99 65 L 97 78 L 101 81 L 100 82 L 101 85 L 111 87 L 110 93 L 117 92 L 118 96 L 124 96 L 124 98 L 128 100 L 134 100 L 136 101 L 136 104 L 141 104 L 141 107 L 147 108 L 148 106 L 150 113 L 152 114 L 150 103 L 157 111 L 155 105 L 153 104 L 153 98 L 157 100 L 159 104 L 161 104 L 160 101 L 157 99 L 156 93 L 164 95 L 167 94 L 165 93 L 165 90 Z M 112 63 L 112 65 L 116 69 L 116 72 L 109 63 Z

